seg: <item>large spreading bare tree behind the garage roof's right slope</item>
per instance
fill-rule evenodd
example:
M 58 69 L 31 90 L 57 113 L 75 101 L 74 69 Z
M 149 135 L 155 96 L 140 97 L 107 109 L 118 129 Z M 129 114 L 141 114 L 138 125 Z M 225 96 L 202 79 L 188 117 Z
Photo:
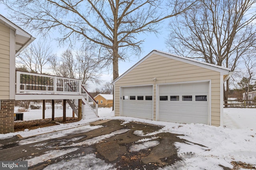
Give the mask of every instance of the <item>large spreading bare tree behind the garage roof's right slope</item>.
M 255 2 L 199 0 L 196 8 L 170 22 L 170 51 L 234 71 L 240 57 L 256 45 Z

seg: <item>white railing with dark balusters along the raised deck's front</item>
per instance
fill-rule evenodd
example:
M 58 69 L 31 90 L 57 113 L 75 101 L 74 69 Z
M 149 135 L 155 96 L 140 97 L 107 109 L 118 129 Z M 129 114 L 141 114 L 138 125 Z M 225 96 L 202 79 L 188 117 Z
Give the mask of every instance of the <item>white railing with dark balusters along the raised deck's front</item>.
M 81 94 L 81 80 L 16 71 L 16 94 Z

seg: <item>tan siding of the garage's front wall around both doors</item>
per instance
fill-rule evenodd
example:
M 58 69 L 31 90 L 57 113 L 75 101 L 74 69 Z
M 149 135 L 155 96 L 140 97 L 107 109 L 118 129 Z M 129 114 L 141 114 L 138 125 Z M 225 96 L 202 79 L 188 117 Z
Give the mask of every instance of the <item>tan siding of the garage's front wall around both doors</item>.
M 152 80 L 156 78 L 156 82 Z M 120 87 L 154 84 L 154 120 L 156 120 L 156 84 L 211 80 L 211 125 L 220 126 L 220 72 L 153 54 L 115 82 L 115 116 L 120 116 Z

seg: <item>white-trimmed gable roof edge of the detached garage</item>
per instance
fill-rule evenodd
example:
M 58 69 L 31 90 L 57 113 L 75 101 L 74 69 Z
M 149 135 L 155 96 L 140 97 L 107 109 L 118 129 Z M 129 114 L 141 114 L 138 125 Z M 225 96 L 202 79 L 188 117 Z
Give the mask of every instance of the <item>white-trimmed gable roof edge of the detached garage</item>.
M 128 74 L 128 72 L 130 72 L 132 69 L 134 69 L 136 66 L 138 66 L 140 63 L 142 63 L 143 61 L 145 61 L 148 57 L 150 57 L 153 54 L 157 54 L 157 55 L 161 55 L 163 57 L 167 57 L 169 59 L 174 59 L 177 61 L 182 61 L 184 63 L 188 63 L 188 64 L 193 64 L 196 66 L 200 66 L 202 68 L 207 68 L 209 70 L 214 70 L 217 72 L 220 72 L 221 75 L 228 75 L 225 77 L 224 82 L 232 75 L 233 72 L 230 71 L 230 68 L 226 68 L 226 67 L 222 67 L 222 66 L 217 66 L 214 64 L 210 64 L 210 63 L 206 63 L 206 62 L 202 62 L 202 61 L 197 61 L 195 59 L 191 59 L 188 57 L 181 57 L 178 55 L 174 55 L 174 54 L 170 54 L 170 53 L 166 53 L 163 51 L 158 51 L 158 50 L 153 50 L 151 51 L 148 55 L 146 55 L 146 57 L 144 57 L 143 59 L 141 59 L 138 63 L 134 64 L 134 66 L 132 66 L 129 70 L 127 70 L 126 72 L 124 72 L 124 74 L 122 74 L 121 76 L 119 76 L 118 78 L 116 78 L 116 80 L 114 80 L 112 82 L 112 84 L 114 84 L 115 82 L 117 82 L 118 80 L 120 80 L 120 78 L 122 78 L 123 76 L 125 76 L 126 74 Z

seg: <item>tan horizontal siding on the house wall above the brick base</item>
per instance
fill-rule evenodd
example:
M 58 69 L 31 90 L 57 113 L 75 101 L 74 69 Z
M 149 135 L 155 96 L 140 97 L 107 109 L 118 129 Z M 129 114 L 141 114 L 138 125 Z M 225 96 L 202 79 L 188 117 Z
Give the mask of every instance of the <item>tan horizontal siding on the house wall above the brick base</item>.
M 0 100 L 10 98 L 10 29 L 0 23 Z

